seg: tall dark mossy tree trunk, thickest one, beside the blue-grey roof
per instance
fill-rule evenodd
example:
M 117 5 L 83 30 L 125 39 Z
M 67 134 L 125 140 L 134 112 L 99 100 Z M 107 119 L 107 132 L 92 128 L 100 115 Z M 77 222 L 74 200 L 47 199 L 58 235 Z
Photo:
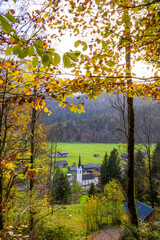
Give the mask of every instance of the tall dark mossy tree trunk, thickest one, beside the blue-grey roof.
M 126 15 L 128 15 L 128 10 Z M 126 33 L 127 33 L 127 42 L 126 42 L 126 76 L 128 88 L 132 87 L 131 79 L 131 47 L 130 47 L 130 27 L 129 23 L 126 23 Z M 128 198 L 128 211 L 131 224 L 138 226 L 138 214 L 137 206 L 135 200 L 135 181 L 134 181 L 134 107 L 133 107 L 133 98 L 127 97 L 127 107 L 128 107 L 128 189 L 127 189 L 127 198 Z

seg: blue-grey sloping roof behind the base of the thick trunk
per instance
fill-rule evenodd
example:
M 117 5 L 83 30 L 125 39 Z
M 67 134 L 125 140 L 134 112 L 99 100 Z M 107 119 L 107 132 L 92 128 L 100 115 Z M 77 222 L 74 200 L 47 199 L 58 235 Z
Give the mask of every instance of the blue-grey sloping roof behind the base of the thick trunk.
M 154 209 L 149 207 L 148 205 L 136 200 L 137 204 L 137 212 L 140 220 L 145 220 L 153 211 Z M 128 205 L 127 203 L 124 204 L 124 209 L 128 213 Z

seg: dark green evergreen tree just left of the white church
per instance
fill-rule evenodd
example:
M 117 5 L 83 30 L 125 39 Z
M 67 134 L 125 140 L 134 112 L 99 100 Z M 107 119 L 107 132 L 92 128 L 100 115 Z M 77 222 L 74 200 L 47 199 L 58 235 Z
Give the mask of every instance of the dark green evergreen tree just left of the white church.
M 70 186 L 67 177 L 58 167 L 53 177 L 53 201 L 58 203 L 68 203 L 70 197 Z

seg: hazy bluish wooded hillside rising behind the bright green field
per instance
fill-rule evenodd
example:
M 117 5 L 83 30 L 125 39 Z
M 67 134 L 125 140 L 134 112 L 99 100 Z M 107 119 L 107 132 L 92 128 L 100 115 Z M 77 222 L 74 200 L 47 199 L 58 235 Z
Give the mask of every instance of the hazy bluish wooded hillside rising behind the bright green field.
M 68 98 L 70 103 L 84 103 L 85 113 L 74 113 L 60 108 L 54 100 L 47 101 L 51 116 L 42 113 L 41 121 L 49 141 L 56 142 L 126 142 L 122 107 L 115 96 L 102 94 L 96 100 L 90 101 L 84 95 Z M 122 96 L 120 96 L 122 101 Z M 122 102 L 121 102 L 122 103 Z M 114 107 L 113 107 L 114 105 Z M 154 107 L 153 107 L 154 105 Z M 126 117 L 125 104 L 123 105 Z M 115 108 L 116 107 L 116 108 Z M 145 142 L 150 131 L 150 139 L 156 142 L 160 135 L 160 105 L 156 102 L 135 99 L 136 141 Z M 126 124 L 127 126 L 127 124 Z M 147 130 L 148 129 L 148 130 Z

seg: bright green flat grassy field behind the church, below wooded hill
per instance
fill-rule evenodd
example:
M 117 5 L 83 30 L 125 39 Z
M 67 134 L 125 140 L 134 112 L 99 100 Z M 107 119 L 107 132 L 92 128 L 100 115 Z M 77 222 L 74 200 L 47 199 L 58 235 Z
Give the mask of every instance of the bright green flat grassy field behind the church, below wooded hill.
M 102 163 L 105 153 L 108 154 L 113 148 L 118 149 L 120 154 L 126 152 L 125 145 L 108 144 L 108 143 L 59 143 L 58 151 L 67 151 L 68 158 L 58 158 L 57 160 L 67 160 L 71 166 L 74 162 L 77 164 L 79 155 L 81 155 L 81 163 Z M 48 151 L 51 149 L 51 143 L 48 144 Z M 54 149 L 54 148 L 53 148 Z M 54 151 L 54 150 L 53 150 Z M 94 154 L 99 154 L 99 157 L 94 157 Z

